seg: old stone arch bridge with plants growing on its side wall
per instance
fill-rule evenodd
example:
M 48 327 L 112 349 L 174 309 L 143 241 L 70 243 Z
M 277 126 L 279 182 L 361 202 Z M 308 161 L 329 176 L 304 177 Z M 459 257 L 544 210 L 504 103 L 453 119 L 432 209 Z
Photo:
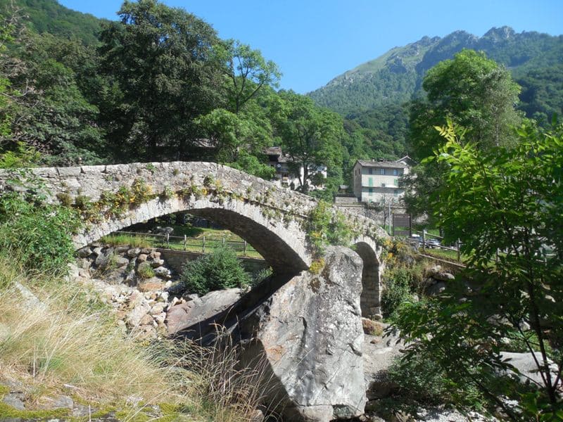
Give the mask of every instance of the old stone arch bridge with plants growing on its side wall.
M 127 192 L 122 212 L 100 209 L 95 222 L 74 237 L 77 249 L 132 224 L 175 212 L 213 220 L 243 237 L 260 252 L 274 273 L 293 276 L 314 261 L 305 222 L 317 201 L 269 181 L 210 162 L 151 162 L 31 170 L 56 203 L 106 203 Z M 0 193 L 11 174 L 0 171 Z M 133 192 L 133 193 L 132 193 Z M 109 199 L 108 199 L 109 198 Z M 333 212 L 336 208 L 332 208 Z M 339 210 L 353 227 L 350 242 L 363 260 L 362 314 L 379 314 L 381 239 L 386 233 L 372 220 Z

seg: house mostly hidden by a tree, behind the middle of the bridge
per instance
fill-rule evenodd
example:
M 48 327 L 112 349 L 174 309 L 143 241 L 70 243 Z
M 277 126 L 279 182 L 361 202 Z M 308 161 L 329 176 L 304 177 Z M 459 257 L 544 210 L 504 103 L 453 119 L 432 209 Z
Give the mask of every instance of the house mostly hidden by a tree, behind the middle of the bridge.
M 276 169 L 276 174 L 274 177 L 275 182 L 279 186 L 291 187 L 293 189 L 296 189 L 298 188 L 298 186 L 300 186 L 299 180 L 303 180 L 304 175 L 303 166 L 301 166 L 297 162 L 293 162 L 288 154 L 284 154 L 283 151 L 281 151 L 280 146 L 270 146 L 269 148 L 265 148 L 264 153 L 268 157 L 268 165 Z M 324 189 L 324 186 L 322 185 L 315 186 L 311 183 L 311 178 L 315 176 L 315 174 L 322 174 L 322 176 L 326 179 L 327 167 L 316 165 L 309 167 L 309 188 L 311 190 Z

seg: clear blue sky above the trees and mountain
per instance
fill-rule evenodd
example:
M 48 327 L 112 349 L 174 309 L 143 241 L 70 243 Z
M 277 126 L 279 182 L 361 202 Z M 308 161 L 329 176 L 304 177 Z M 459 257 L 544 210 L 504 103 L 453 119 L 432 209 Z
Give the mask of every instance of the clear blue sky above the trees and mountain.
M 481 36 L 508 25 L 516 32 L 563 34 L 563 0 L 161 0 L 213 25 L 274 60 L 280 87 L 301 94 L 395 46 L 465 30 Z M 59 0 L 115 20 L 120 0 Z

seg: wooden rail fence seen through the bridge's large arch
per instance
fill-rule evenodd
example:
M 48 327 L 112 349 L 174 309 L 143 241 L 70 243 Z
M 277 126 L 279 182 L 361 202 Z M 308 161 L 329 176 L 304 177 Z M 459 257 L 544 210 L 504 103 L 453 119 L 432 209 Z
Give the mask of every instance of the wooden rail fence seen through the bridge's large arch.
M 243 257 L 261 257 L 260 254 L 246 241 L 228 241 L 225 236 L 217 238 L 192 238 L 188 236 L 170 236 L 170 234 L 138 233 L 136 231 L 116 231 L 115 234 L 108 236 L 132 236 L 146 241 L 154 248 L 167 248 L 175 250 L 189 250 L 191 252 L 212 252 L 220 246 L 227 246 L 234 250 L 236 255 Z

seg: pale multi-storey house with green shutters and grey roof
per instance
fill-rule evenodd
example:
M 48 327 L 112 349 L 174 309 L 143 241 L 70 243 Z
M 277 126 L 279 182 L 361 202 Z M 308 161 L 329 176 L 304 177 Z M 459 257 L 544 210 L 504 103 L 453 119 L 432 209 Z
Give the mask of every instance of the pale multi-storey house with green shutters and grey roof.
M 354 195 L 362 203 L 398 203 L 405 195 L 399 179 L 409 174 L 412 159 L 358 160 L 354 165 Z

